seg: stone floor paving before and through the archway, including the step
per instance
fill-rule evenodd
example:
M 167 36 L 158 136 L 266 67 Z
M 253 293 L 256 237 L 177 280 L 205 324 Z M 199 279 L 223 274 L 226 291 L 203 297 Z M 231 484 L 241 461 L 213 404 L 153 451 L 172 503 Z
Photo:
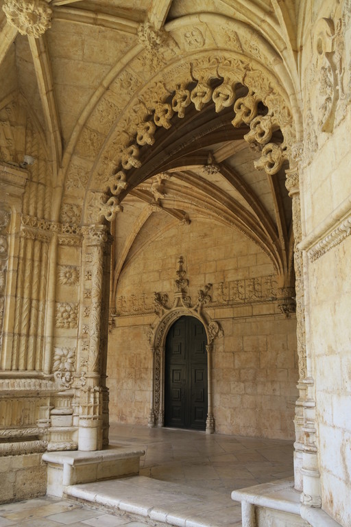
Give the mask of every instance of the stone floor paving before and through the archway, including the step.
M 104 511 L 80 502 L 42 497 L 0 505 L 0 527 L 144 527 L 157 521 L 180 527 L 239 526 L 240 505 L 231 500 L 232 490 L 293 475 L 291 441 L 111 425 L 110 443 L 145 449 L 142 477 L 129 478 L 124 484 L 119 480 L 116 484 L 100 482 L 76 487 L 90 492 L 93 489 L 94 495 L 114 495 L 120 502 L 130 496 L 123 511 L 112 515 L 111 508 Z M 148 484 L 145 476 L 153 481 Z M 158 505 L 161 498 L 162 509 Z M 133 505 L 138 503 L 141 505 Z M 152 505 L 149 517 L 128 513 L 138 511 L 145 503 Z

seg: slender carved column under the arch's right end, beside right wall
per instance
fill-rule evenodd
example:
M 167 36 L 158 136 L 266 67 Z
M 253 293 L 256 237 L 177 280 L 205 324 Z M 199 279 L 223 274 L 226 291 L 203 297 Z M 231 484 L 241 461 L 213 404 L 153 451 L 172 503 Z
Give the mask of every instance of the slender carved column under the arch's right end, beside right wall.
M 306 359 L 306 320 L 304 298 L 304 261 L 299 244 L 302 240 L 300 185 L 298 169 L 287 170 L 286 187 L 292 198 L 293 233 L 295 238 L 295 290 L 298 337 L 298 365 L 300 397 L 295 405 L 294 471 L 295 488 L 302 491 L 301 501 L 305 505 L 321 506 L 317 441 L 315 436 L 315 399 L 313 379 L 308 377 Z

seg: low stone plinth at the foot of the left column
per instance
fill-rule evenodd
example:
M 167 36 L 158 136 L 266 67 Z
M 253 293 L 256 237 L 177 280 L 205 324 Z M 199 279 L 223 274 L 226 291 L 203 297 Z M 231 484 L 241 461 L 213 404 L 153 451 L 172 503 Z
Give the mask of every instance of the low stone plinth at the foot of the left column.
M 139 473 L 140 458 L 145 452 L 131 447 L 113 447 L 95 452 L 46 452 L 47 493 L 61 497 L 65 488 Z

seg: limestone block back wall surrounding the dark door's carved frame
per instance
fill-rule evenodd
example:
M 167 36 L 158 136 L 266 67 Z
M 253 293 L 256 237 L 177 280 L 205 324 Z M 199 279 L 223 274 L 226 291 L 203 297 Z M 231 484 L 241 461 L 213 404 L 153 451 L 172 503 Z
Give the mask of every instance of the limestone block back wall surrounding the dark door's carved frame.
M 204 311 L 223 329 L 212 352 L 215 430 L 293 438 L 295 315 L 286 318 L 278 309 L 269 258 L 241 233 L 201 218 L 172 226 L 135 254 L 119 278 L 108 342 L 110 421 L 147 424 L 153 375 L 148 332 L 158 320 L 153 292 L 167 294 L 171 307 L 182 255 L 192 302 L 211 283 Z

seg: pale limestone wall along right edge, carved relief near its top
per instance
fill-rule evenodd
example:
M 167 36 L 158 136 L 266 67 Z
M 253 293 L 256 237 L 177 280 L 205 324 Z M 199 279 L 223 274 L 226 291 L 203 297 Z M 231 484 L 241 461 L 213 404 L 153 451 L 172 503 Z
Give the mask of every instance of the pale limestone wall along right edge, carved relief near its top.
M 317 421 L 317 438 L 306 443 L 310 452 L 317 450 L 322 508 L 346 527 L 351 524 L 350 5 L 318 1 L 306 18 L 300 188 L 306 355 Z

